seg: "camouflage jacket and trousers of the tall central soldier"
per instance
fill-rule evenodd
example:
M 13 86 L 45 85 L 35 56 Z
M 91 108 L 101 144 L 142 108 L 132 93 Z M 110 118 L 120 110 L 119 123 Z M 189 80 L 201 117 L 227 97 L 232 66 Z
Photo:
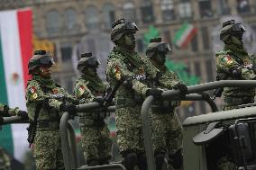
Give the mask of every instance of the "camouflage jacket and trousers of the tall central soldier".
M 145 74 L 156 77 L 157 73 L 158 69 L 146 58 L 118 46 L 111 51 L 106 67 L 107 80 L 111 86 L 119 84 L 119 76 L 124 79 Z M 143 96 L 149 89 L 142 81 L 133 79 L 131 87 L 120 85 L 115 94 L 116 137 L 121 152 L 144 150 L 141 108 Z

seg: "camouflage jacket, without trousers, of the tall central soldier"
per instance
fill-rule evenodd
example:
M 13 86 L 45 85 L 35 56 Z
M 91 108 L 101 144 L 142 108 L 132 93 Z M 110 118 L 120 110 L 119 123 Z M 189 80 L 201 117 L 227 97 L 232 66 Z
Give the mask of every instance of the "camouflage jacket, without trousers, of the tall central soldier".
M 121 84 L 115 94 L 116 105 L 119 105 L 119 101 L 127 105 L 136 104 L 134 99 L 144 97 L 150 89 L 145 80 L 156 78 L 158 73 L 159 69 L 148 58 L 141 58 L 136 52 L 115 46 L 107 61 L 106 77 L 112 87 Z M 127 80 L 128 85 L 122 83 Z

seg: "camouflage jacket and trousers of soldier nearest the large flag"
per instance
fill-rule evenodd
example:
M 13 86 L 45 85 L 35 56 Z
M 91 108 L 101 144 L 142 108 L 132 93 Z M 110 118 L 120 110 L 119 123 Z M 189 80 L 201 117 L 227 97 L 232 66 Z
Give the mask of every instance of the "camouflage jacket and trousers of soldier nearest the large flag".
M 43 103 L 37 119 L 37 132 L 34 139 L 33 156 L 36 167 L 41 169 L 64 169 L 61 142 L 59 136 L 60 102 L 51 98 L 52 94 L 70 95 L 55 84 L 52 79 L 32 76 L 26 88 L 26 105 L 29 118 L 34 121 L 34 114 L 39 103 Z

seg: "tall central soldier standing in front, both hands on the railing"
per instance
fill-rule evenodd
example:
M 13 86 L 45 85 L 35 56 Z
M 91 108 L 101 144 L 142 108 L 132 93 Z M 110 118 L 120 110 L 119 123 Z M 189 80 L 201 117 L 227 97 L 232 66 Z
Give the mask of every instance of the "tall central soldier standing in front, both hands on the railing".
M 123 165 L 128 170 L 138 166 L 147 169 L 142 137 L 141 108 L 143 97 L 160 97 L 162 90 L 148 87 L 147 78 L 158 79 L 159 69 L 153 67 L 147 58 L 135 52 L 134 22 L 117 20 L 112 24 L 111 40 L 114 49 L 107 61 L 107 81 L 115 93 L 116 138 Z M 115 91 L 115 92 L 114 92 Z

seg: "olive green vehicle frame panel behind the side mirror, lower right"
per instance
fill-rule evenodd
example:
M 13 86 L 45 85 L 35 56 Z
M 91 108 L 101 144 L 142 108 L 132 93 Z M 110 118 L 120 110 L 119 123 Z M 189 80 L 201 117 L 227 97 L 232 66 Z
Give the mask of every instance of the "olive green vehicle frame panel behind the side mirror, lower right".
M 193 138 L 198 133 L 206 130 L 206 125 L 209 122 L 221 121 L 223 125 L 231 125 L 236 120 L 246 118 L 256 118 L 256 107 L 210 112 L 187 118 L 183 122 L 184 170 L 207 170 L 205 147 L 196 146 L 193 143 Z

